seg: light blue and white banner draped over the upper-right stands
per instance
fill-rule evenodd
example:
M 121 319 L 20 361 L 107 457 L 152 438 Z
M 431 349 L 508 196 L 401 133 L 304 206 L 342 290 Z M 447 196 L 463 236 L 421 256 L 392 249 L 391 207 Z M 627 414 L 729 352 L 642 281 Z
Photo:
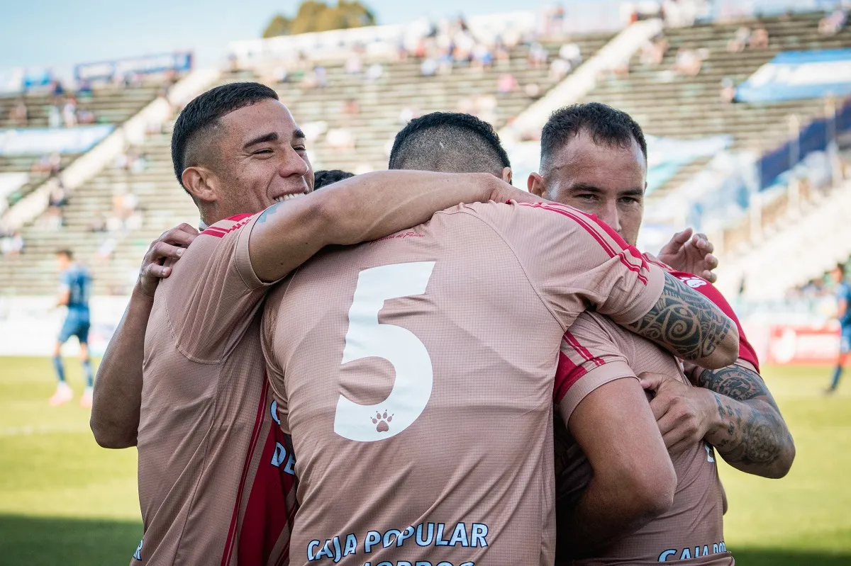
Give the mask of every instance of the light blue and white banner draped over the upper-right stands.
M 777 54 L 736 88 L 738 102 L 820 99 L 851 94 L 851 49 Z

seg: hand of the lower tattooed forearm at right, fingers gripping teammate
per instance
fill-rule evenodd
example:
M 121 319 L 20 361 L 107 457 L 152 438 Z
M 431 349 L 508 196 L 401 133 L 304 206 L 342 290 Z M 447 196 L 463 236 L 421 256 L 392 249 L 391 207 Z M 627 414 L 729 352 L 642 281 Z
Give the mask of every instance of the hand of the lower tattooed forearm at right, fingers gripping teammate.
M 650 410 L 671 454 L 688 450 L 703 440 L 718 412 L 711 392 L 658 373 L 643 373 L 639 379 L 644 389 L 655 393 Z

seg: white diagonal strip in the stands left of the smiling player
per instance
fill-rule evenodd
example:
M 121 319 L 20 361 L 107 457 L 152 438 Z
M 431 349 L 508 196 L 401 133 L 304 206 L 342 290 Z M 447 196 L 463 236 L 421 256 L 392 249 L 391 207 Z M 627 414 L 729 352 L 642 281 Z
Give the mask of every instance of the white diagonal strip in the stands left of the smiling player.
M 66 191 L 72 193 L 77 187 L 100 173 L 101 169 L 126 149 L 128 143 L 141 143 L 145 139 L 149 124 L 168 120 L 171 117 L 173 105 L 178 108 L 186 105 L 189 100 L 203 92 L 219 76 L 219 71 L 198 70 L 192 71 L 175 83 L 168 93 L 168 100 L 163 98 L 153 100 L 151 104 L 140 110 L 127 122 L 124 122 L 121 127 L 117 127 L 100 144 L 95 145 L 66 167 L 60 173 L 60 179 Z M 13 231 L 38 218 L 47 209 L 49 195 L 53 189 L 54 181 L 52 179 L 39 185 L 36 190 L 26 195 L 3 214 L 3 218 L 0 218 L 0 226 L 3 229 Z

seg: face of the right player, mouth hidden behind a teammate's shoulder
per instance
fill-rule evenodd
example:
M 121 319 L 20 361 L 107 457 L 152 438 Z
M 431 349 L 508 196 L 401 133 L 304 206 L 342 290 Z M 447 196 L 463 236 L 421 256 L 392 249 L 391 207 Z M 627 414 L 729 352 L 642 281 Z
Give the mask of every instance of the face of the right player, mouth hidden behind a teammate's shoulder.
M 635 246 L 644 214 L 647 161 L 635 139 L 629 147 L 595 144 L 584 130 L 555 152 L 529 190 L 582 212 L 596 214 Z

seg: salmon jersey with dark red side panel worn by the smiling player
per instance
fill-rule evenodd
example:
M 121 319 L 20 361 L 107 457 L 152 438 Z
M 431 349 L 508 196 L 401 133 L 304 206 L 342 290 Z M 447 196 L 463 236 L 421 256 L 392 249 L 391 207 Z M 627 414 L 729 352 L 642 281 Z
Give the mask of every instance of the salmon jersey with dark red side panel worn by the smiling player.
M 256 218 L 204 230 L 157 289 L 137 444 L 145 530 L 133 564 L 287 562 L 294 459 L 260 348 L 267 286 L 248 258 Z

